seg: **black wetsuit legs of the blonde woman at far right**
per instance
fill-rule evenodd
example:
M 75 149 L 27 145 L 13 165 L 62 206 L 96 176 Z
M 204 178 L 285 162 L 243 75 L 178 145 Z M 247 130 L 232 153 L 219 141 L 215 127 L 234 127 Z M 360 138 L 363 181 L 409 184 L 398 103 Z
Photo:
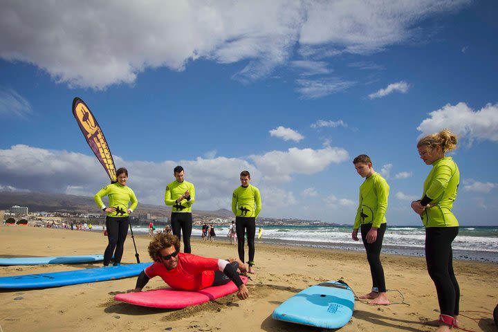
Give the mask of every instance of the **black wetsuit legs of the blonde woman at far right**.
M 460 288 L 453 271 L 451 248 L 458 232 L 458 226 L 425 228 L 427 271 L 436 286 L 439 311 L 450 316 L 459 314 Z

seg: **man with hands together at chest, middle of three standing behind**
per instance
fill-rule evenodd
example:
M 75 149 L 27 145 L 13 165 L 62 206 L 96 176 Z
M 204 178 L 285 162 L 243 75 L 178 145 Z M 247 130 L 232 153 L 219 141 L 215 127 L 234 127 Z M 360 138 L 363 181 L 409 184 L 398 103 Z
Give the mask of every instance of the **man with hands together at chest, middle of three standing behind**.
M 181 239 L 183 232 L 183 252 L 190 254 L 190 235 L 192 234 L 192 205 L 195 202 L 195 187 L 185 181 L 183 167 L 173 170 L 175 181 L 166 186 L 165 204 L 172 207 L 172 232 Z

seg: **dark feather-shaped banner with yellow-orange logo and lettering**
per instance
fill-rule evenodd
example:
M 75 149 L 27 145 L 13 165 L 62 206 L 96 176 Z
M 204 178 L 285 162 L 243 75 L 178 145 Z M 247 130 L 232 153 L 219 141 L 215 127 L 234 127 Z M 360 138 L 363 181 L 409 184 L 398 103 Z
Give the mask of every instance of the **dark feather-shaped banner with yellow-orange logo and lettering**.
M 111 181 L 116 181 L 116 167 L 104 133 L 89 107 L 77 97 L 73 100 L 73 116 L 95 157 L 100 161 Z

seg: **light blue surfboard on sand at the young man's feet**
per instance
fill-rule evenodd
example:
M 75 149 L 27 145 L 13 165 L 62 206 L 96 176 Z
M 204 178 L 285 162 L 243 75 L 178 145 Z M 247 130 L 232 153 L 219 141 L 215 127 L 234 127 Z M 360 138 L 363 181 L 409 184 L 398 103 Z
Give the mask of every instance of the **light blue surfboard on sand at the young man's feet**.
M 342 282 L 322 282 L 300 291 L 280 304 L 272 313 L 274 320 L 338 329 L 351 319 L 354 295 Z

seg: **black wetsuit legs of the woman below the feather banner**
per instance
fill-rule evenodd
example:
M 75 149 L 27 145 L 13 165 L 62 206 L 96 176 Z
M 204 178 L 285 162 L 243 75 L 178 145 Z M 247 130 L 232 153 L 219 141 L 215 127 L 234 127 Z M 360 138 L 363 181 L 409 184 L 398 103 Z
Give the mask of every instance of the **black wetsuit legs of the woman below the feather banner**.
M 104 252 L 104 266 L 109 265 L 113 254 L 114 264 L 120 264 L 124 249 L 124 240 L 126 240 L 128 234 L 128 217 L 106 216 L 106 227 L 109 244 Z M 114 249 L 116 249 L 116 252 L 114 252 Z

